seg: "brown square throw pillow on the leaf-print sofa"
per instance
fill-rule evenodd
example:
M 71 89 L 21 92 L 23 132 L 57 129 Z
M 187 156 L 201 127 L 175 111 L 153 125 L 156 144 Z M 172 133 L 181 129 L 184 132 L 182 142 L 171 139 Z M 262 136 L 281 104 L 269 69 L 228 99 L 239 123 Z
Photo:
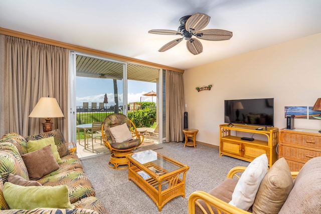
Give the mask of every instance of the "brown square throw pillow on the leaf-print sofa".
M 51 150 L 51 144 L 38 150 L 21 155 L 31 180 L 37 180 L 57 170 L 59 165 Z

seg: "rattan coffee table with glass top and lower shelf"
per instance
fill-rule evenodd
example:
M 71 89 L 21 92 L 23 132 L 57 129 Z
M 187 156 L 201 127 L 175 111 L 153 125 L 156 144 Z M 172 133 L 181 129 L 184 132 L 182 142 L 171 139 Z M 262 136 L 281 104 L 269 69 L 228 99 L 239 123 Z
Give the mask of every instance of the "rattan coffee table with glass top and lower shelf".
M 172 198 L 185 197 L 188 165 L 153 150 L 128 154 L 127 159 L 128 179 L 146 192 L 159 211 Z

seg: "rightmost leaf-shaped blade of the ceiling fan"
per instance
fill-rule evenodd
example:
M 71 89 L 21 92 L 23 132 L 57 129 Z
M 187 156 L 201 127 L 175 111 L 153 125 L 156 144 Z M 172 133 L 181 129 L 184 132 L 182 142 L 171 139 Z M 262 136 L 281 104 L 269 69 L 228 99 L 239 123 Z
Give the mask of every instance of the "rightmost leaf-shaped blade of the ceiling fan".
M 197 38 L 221 41 L 228 40 L 233 36 L 233 32 L 224 29 L 204 29 L 195 33 Z

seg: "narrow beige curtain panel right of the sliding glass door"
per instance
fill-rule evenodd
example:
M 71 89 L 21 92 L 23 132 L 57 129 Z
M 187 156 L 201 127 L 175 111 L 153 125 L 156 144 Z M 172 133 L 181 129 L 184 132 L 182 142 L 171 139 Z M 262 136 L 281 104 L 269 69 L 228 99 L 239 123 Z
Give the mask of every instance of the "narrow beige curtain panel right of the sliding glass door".
M 172 70 L 166 70 L 166 142 L 182 141 L 183 128 L 183 73 Z

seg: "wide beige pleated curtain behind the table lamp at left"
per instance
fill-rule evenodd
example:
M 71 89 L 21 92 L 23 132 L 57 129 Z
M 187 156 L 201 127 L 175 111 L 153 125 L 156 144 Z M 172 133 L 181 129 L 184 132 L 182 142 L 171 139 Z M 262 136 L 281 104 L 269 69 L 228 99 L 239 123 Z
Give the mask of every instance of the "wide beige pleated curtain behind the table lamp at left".
M 43 118 L 30 112 L 42 96 L 55 97 L 65 117 L 52 118 L 68 136 L 69 49 L 1 35 L 1 136 L 42 132 Z

